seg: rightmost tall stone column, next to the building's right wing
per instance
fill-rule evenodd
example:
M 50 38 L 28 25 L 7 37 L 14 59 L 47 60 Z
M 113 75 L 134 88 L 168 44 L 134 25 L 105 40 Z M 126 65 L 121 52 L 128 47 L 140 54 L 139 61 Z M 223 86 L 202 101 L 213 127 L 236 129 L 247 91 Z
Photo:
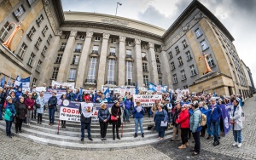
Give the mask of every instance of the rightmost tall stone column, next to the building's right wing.
M 163 75 L 162 75 L 163 84 L 167 85 L 170 89 L 173 89 L 169 58 L 166 54 L 166 46 L 161 46 L 160 60 L 162 62 L 161 71 L 163 72 Z

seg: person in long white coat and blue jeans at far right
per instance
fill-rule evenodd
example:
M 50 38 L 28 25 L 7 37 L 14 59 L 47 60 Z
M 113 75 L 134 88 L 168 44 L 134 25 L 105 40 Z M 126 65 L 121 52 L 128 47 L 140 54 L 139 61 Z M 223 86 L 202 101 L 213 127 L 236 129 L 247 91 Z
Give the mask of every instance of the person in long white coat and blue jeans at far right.
M 242 129 L 242 119 L 241 119 L 241 106 L 239 105 L 239 100 L 236 98 L 233 100 L 233 106 L 231 106 L 230 111 L 230 123 L 231 129 L 233 130 L 234 143 L 232 146 L 241 147 L 241 129 Z

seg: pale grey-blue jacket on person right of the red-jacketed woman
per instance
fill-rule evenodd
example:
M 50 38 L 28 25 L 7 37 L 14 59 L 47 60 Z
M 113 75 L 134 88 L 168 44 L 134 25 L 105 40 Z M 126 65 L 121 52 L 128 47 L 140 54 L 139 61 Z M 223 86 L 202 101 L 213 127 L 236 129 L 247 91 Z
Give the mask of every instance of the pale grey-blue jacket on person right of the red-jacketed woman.
M 197 128 L 201 127 L 201 111 L 196 108 L 189 118 L 190 130 L 195 133 Z

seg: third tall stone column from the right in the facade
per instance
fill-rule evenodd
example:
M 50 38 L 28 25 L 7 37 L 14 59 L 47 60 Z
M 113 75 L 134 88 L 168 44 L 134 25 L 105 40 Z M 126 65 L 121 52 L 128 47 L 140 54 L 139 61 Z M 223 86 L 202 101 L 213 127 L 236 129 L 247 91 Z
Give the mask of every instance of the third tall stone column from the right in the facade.
M 143 87 L 143 60 L 142 60 L 142 49 L 141 49 L 141 40 L 135 39 L 135 66 L 136 66 L 136 83 L 138 87 Z

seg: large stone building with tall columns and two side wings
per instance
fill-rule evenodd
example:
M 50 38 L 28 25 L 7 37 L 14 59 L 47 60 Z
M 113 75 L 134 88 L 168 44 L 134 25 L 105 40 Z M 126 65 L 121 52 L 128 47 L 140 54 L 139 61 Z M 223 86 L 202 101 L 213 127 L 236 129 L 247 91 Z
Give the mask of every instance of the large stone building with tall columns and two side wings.
M 64 12 L 61 0 L 3 0 L 0 13 L 0 41 L 13 30 L 7 27 L 10 22 L 23 21 L 25 31 L 23 37 L 21 33 L 15 37 L 14 54 L 3 62 L 15 59 L 25 73 L 17 65 L 5 67 L 11 67 L 9 71 L 1 68 L 7 77 L 32 75 L 37 85 L 56 80 L 85 89 L 136 83 L 143 87 L 148 82 L 187 89 L 205 72 L 199 60 L 204 52 L 209 54 L 212 71 L 223 74 L 225 80 L 221 88 L 214 88 L 217 81 L 212 88 L 201 86 L 196 92 L 246 96 L 249 90 L 234 38 L 196 0 L 167 30 L 108 14 Z M 0 47 L 1 56 L 6 57 Z

